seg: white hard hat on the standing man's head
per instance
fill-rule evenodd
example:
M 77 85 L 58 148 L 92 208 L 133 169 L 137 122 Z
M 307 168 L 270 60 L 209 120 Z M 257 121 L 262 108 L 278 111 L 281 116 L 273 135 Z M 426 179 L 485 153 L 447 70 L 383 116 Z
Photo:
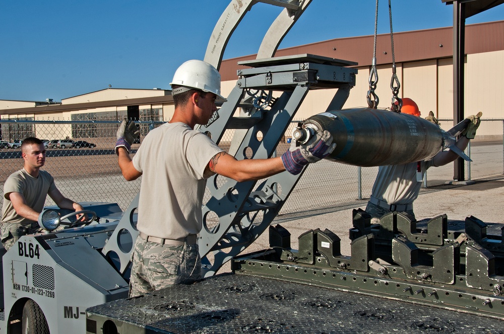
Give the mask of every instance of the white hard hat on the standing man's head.
M 175 71 L 170 85 L 183 86 L 173 89 L 173 95 L 186 92 L 188 89 L 197 89 L 217 95 L 216 102 L 227 101 L 220 93 L 219 71 L 202 60 L 187 60 L 180 65 Z

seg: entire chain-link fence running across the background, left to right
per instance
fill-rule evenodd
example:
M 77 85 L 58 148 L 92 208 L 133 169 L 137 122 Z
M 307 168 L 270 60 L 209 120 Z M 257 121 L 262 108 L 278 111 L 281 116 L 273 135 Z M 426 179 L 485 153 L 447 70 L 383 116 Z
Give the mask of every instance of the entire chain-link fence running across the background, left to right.
M 137 195 L 141 178 L 127 182 L 121 175 L 114 154 L 115 133 L 119 124 L 118 121 L 2 120 L 1 139 L 11 143 L 30 136 L 45 139 L 47 157 L 43 169 L 54 177 L 62 194 L 77 202 L 117 203 L 125 210 Z M 163 122 L 139 122 L 141 140 L 150 129 L 160 124 Z M 452 124 L 451 120 L 440 120 L 440 126 L 445 130 L 450 129 Z M 290 134 L 296 125 L 297 121 L 290 124 L 277 146 L 276 156 L 289 148 Z M 473 159 L 470 164 L 466 163 L 466 180 L 504 174 L 503 127 L 503 120 L 481 122 L 478 133 L 485 135 L 476 136 L 466 150 Z M 226 131 L 220 143 L 222 148 L 229 148 L 233 134 L 233 130 Z M 62 142 L 58 145 L 60 140 L 73 141 L 74 146 L 62 148 Z M 133 144 L 133 152 L 139 145 Z M 0 187 L 3 193 L 9 175 L 23 168 L 21 150 L 16 146 L 0 146 L 0 161 Z M 309 165 L 280 213 L 302 212 L 306 208 L 328 207 L 368 198 L 377 171 L 377 167 L 358 168 L 326 160 Z M 429 169 L 424 186 L 438 186 L 452 179 L 453 163 L 450 163 Z M 0 204 L 3 200 L 2 197 Z M 54 205 L 50 197 L 47 197 L 46 205 Z

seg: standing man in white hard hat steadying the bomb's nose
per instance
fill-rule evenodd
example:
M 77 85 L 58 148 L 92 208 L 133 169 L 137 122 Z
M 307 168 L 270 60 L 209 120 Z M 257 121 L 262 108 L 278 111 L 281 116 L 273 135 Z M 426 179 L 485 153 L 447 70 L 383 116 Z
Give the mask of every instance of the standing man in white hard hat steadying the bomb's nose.
M 202 228 L 202 201 L 206 179 L 214 174 L 238 182 L 260 180 L 288 171 L 298 174 L 309 162 L 332 152 L 329 133 L 309 147 L 293 147 L 281 157 L 237 160 L 204 133 L 193 130 L 207 124 L 225 102 L 220 74 L 210 64 L 190 60 L 176 70 L 172 86 L 175 112 L 169 123 L 144 138 L 133 159 L 131 144 L 138 136 L 133 122 L 117 130 L 116 154 L 128 181 L 142 176 L 130 296 L 201 279 L 196 235 Z

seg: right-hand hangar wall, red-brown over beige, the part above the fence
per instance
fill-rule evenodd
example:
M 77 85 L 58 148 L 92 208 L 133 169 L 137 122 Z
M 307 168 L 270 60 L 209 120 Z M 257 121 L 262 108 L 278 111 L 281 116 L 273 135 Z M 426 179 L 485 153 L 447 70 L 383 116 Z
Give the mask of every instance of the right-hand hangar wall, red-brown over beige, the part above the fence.
M 399 97 L 409 97 L 419 106 L 422 116 L 433 111 L 438 118 L 453 117 L 453 60 L 450 28 L 419 30 L 394 34 L 397 76 L 401 84 Z M 504 91 L 504 21 L 468 25 L 466 28 L 465 110 L 466 116 L 483 111 L 484 118 L 504 117 L 501 108 Z M 497 36 L 497 38 L 495 38 Z M 500 37 L 499 37 L 500 36 Z M 372 58 L 373 36 L 352 37 L 283 49 L 278 56 L 312 53 L 359 62 L 356 86 L 351 90 L 345 108 L 367 107 L 368 77 Z M 439 46 L 439 45 L 442 45 Z M 333 50 L 336 48 L 336 50 Z M 377 38 L 376 58 L 379 84 L 375 93 L 379 108 L 391 105 L 392 76 L 390 35 Z M 384 54 L 383 52 L 387 52 Z M 226 82 L 223 92 L 234 87 L 237 61 L 254 55 L 228 59 L 221 66 Z M 296 117 L 307 118 L 325 111 L 334 90 L 309 92 Z

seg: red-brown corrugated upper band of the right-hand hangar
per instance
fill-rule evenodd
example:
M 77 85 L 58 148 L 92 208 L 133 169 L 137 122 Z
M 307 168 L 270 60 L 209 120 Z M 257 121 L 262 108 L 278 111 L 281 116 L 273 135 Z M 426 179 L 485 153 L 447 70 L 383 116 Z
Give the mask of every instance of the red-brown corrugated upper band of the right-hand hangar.
M 452 27 L 394 33 L 396 62 L 452 57 L 452 38 Z M 504 50 L 504 21 L 466 26 L 467 54 L 500 50 Z M 302 53 L 356 61 L 359 67 L 369 66 L 373 54 L 373 36 L 338 38 L 306 44 L 278 50 L 276 55 Z M 255 55 L 248 55 L 223 60 L 220 69 L 222 80 L 236 79 L 236 70 L 243 68 L 236 63 L 241 60 L 255 59 L 255 57 Z M 376 63 L 392 63 L 390 34 L 378 35 L 376 38 Z

